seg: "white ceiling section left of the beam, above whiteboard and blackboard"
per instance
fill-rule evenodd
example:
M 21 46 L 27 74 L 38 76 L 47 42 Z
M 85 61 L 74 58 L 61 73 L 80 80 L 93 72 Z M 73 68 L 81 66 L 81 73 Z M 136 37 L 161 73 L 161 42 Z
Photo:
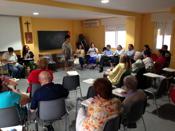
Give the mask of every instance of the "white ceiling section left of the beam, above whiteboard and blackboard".
M 33 16 L 33 12 L 39 12 L 39 16 Z M 63 18 L 63 19 L 99 19 L 116 17 L 118 15 L 105 14 L 98 12 L 90 12 L 84 10 L 75 10 L 67 8 L 59 8 L 53 6 L 44 6 L 37 4 L 10 2 L 7 0 L 0 0 L 0 15 L 12 16 L 32 16 L 43 18 Z

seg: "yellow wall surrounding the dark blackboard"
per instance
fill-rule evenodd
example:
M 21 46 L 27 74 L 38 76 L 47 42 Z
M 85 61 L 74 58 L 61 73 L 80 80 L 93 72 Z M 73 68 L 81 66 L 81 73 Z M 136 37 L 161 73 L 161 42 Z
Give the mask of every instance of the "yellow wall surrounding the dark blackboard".
M 75 20 L 62 20 L 62 19 L 46 19 L 46 18 L 30 18 L 30 17 L 22 17 L 22 25 L 23 25 L 23 40 L 25 41 L 24 32 L 25 29 L 25 21 L 29 21 L 32 26 L 31 31 L 33 32 L 33 44 L 28 44 L 31 50 L 34 51 L 36 60 L 38 59 L 39 54 L 52 54 L 52 53 L 61 53 L 61 50 L 52 50 L 52 51 L 44 51 L 39 52 L 38 47 L 38 36 L 37 31 L 70 31 L 71 35 L 71 44 L 73 49 L 75 49 L 75 43 L 78 39 L 78 35 L 82 33 L 82 25 L 81 21 Z

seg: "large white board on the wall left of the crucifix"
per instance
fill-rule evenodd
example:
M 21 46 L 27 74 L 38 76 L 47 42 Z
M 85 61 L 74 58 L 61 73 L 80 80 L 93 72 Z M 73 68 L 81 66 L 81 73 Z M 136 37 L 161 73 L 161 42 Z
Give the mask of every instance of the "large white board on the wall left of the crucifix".
M 0 51 L 22 50 L 19 17 L 0 16 Z

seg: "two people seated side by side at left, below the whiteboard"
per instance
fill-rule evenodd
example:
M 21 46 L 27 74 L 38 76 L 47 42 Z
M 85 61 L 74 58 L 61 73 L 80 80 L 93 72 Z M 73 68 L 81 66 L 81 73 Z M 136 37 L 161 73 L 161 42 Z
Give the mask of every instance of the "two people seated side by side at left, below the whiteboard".
M 18 59 L 12 47 L 9 47 L 8 51 L 5 52 L 1 58 L 2 65 L 4 65 L 4 69 L 8 70 L 9 74 L 13 78 L 25 77 L 24 67 L 31 65 L 29 60 L 33 61 L 34 55 L 27 45 L 23 47 L 23 58 L 21 61 Z

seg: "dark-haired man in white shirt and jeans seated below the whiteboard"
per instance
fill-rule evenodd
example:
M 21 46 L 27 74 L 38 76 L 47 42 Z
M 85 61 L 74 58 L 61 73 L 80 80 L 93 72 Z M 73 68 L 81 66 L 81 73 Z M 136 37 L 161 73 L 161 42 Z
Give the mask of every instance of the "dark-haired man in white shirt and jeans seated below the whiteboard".
M 12 47 L 8 48 L 8 52 L 5 52 L 2 55 L 2 61 L 6 64 L 7 68 L 11 72 L 12 77 L 21 78 L 24 75 L 23 66 L 20 65 L 17 61 L 18 58 Z

